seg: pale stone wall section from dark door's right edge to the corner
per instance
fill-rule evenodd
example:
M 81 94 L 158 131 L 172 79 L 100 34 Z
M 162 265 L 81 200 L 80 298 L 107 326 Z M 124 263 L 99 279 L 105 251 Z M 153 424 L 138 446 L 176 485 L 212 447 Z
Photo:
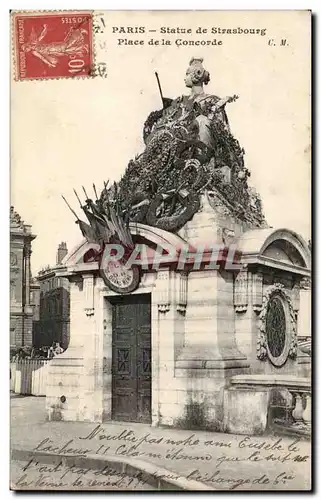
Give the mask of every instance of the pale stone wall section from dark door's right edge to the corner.
M 155 307 L 153 322 L 155 425 L 220 430 L 223 387 L 231 375 L 247 370 L 234 339 L 233 277 L 215 270 L 190 273 L 183 314 L 177 311 L 174 272 L 169 286 L 174 299 L 167 311 Z

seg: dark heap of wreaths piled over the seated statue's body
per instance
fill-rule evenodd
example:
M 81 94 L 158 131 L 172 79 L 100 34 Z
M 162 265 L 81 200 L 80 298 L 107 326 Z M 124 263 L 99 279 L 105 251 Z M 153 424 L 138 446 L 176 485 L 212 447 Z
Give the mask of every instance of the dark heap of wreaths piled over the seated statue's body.
M 200 203 L 194 203 L 195 194 L 216 189 L 230 203 L 236 218 L 256 226 L 264 224 L 260 199 L 253 195 L 247 184 L 250 172 L 244 167 L 244 149 L 220 119 L 214 119 L 211 123 L 214 149 L 193 139 L 191 127 L 195 112 L 193 110 L 188 119 L 178 126 L 160 127 L 156 133 L 154 126 L 157 127 L 157 122 L 162 119 L 162 110 L 149 115 L 143 130 L 145 150 L 130 162 L 130 168 L 126 169 L 119 183 L 122 208 L 129 210 L 129 219 L 133 222 L 151 224 L 153 221 L 153 225 L 175 232 L 193 218 L 195 210 L 199 210 Z M 230 182 L 221 173 L 220 168 L 224 166 L 231 169 Z M 148 187 L 151 179 L 157 186 L 153 192 Z M 172 199 L 173 203 L 174 199 L 177 201 L 175 210 L 173 203 L 170 209 L 170 205 L 167 205 L 169 210 L 160 210 L 160 206 L 164 207 L 161 195 L 171 196 L 172 191 L 180 189 L 183 182 L 184 189 L 190 193 L 185 201 L 193 200 L 189 209 L 182 203 L 182 198 L 176 197 Z M 138 193 L 143 193 L 148 202 L 137 208 L 133 198 Z M 159 205 L 155 210 L 157 202 Z M 134 211 L 131 210 L 133 206 Z

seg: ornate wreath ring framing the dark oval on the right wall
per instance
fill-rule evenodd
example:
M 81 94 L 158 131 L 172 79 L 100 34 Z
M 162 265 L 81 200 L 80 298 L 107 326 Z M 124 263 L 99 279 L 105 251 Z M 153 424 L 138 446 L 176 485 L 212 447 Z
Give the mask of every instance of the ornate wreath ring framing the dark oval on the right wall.
M 271 356 L 269 355 L 269 348 L 267 342 L 267 331 L 266 331 L 266 320 L 268 313 L 268 306 L 270 300 L 273 297 L 280 297 L 283 300 L 288 309 L 288 321 L 286 322 L 286 337 L 285 346 L 283 352 L 280 356 L 278 362 L 275 360 L 271 360 Z M 296 317 L 295 312 L 292 305 L 292 300 L 288 292 L 285 290 L 284 285 L 281 283 L 276 283 L 274 285 L 269 286 L 266 289 L 266 292 L 263 296 L 262 309 L 259 316 L 260 326 L 259 333 L 256 344 L 256 352 L 258 359 L 264 361 L 268 357 L 273 362 L 273 364 L 277 364 L 277 366 L 281 366 L 285 363 L 287 357 L 294 359 L 297 355 L 297 334 L 296 334 Z

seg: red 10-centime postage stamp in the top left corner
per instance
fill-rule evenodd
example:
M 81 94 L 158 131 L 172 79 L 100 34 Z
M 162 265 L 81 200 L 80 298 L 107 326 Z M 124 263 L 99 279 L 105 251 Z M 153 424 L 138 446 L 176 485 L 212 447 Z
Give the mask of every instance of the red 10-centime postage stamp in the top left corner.
M 14 14 L 17 80 L 74 78 L 93 72 L 92 14 Z

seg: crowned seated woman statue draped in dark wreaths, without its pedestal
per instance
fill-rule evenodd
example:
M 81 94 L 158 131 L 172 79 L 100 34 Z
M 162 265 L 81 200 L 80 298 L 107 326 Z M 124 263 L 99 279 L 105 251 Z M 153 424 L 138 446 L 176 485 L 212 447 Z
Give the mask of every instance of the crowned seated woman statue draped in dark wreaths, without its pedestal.
M 209 81 L 203 59 L 193 58 L 185 76 L 190 95 L 162 97 L 163 108 L 147 118 L 144 151 L 129 162 L 119 182 L 118 205 L 129 220 L 178 230 L 199 209 L 200 193 L 221 181 L 221 167 L 233 170 L 233 182 L 244 169 L 243 150 L 230 132 L 225 112 L 225 105 L 237 96 L 220 99 L 206 94 Z M 239 187 L 245 197 L 246 182 Z M 231 189 L 227 195 L 241 196 Z

